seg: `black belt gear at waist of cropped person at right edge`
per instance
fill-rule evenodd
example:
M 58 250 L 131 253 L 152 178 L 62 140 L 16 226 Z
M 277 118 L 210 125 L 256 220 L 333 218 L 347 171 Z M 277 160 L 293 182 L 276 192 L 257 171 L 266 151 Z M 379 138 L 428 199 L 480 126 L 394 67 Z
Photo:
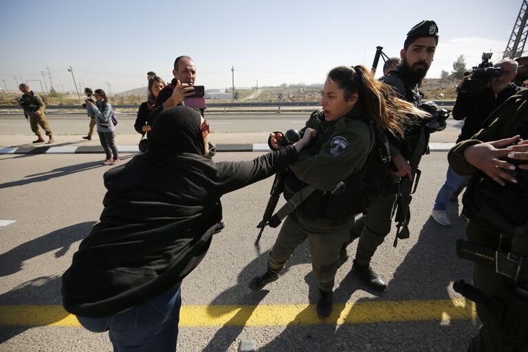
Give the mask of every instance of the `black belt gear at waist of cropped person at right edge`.
M 456 241 L 456 255 L 461 259 L 483 264 L 498 274 L 511 278 L 520 290 L 518 292 L 528 296 L 528 256 L 518 256 L 461 239 Z

